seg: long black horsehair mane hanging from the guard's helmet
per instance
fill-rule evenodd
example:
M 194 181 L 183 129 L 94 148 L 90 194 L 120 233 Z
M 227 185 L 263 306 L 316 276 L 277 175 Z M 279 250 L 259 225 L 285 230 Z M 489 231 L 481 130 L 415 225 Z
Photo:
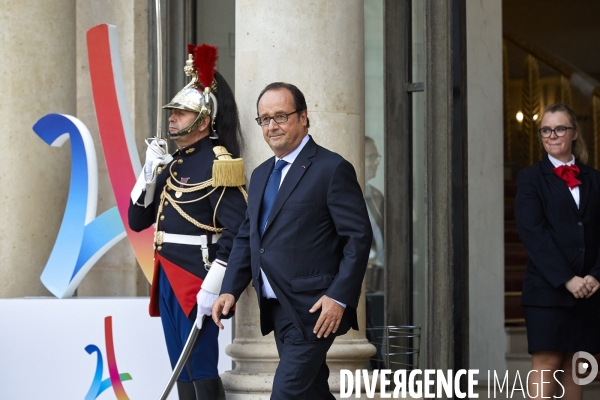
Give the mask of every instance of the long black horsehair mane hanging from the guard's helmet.
M 233 97 L 233 92 L 227 84 L 223 75 L 219 72 L 215 73 L 217 81 L 217 97 L 218 108 L 217 118 L 215 118 L 215 129 L 219 135 L 219 139 L 214 140 L 217 145 L 224 146 L 232 155 L 233 158 L 240 156 L 242 144 L 242 129 L 240 127 L 240 116 Z

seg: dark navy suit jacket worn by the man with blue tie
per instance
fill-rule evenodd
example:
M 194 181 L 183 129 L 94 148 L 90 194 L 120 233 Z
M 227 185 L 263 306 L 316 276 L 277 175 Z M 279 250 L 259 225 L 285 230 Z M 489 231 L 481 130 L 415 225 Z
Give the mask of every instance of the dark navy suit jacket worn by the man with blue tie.
M 358 329 L 356 307 L 372 232 L 354 168 L 310 138 L 279 188 L 261 238 L 260 206 L 274 165 L 270 158 L 252 173 L 246 220 L 234 240 L 221 293 L 237 300 L 252 281 L 260 305 L 262 268 L 307 340 L 316 340 L 312 330 L 319 317 L 308 310 L 323 295 L 346 304 L 338 335 Z M 264 335 L 273 330 L 262 308 L 261 330 Z

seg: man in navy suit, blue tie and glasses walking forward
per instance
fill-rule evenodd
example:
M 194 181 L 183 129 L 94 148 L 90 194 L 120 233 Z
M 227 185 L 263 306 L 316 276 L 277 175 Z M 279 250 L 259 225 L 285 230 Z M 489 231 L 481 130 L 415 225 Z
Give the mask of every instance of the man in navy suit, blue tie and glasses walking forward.
M 257 111 L 275 157 L 252 174 L 213 319 L 220 325 L 252 281 L 280 357 L 271 399 L 334 399 L 325 358 L 336 336 L 358 329 L 372 242 L 365 201 L 352 165 L 308 135 L 296 86 L 268 85 Z

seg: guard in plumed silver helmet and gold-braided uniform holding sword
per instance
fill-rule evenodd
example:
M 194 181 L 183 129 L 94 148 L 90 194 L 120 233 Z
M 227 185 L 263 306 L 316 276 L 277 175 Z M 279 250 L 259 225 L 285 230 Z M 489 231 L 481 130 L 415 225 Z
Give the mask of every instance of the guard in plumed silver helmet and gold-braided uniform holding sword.
M 155 227 L 150 315 L 161 317 L 172 367 L 196 316 L 211 313 L 247 198 L 238 110 L 214 69 L 217 49 L 203 44 L 188 50 L 185 72 L 192 80 L 163 107 L 171 110 L 169 137 L 177 151 L 169 154 L 164 140 L 148 142 L 129 206 L 131 229 Z M 210 318 L 203 324 L 177 380 L 181 400 L 225 399 L 219 329 Z

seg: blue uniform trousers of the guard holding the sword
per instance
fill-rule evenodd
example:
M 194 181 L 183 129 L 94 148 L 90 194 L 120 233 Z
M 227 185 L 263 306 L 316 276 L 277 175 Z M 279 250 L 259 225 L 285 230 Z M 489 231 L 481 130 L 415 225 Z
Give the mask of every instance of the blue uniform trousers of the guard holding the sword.
M 159 267 L 159 307 L 171 367 L 175 367 L 185 342 L 194 326 L 181 309 L 162 266 Z M 195 344 L 192 354 L 181 371 L 178 381 L 191 382 L 219 376 L 219 328 L 210 318 L 204 320 L 204 333 Z

